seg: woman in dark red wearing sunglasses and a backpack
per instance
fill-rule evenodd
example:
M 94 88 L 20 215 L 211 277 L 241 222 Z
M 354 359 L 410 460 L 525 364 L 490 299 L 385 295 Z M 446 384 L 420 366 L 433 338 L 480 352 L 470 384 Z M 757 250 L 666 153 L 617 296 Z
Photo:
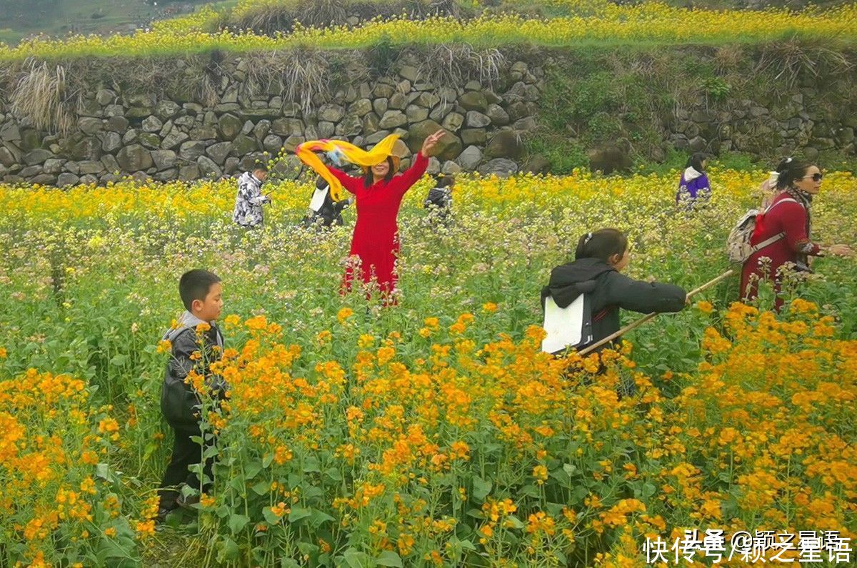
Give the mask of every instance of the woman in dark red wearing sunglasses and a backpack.
M 756 230 L 750 244 L 756 245 L 775 236 L 779 238 L 768 246 L 759 249 L 744 263 L 741 271 L 741 292 L 747 300 L 758 295 L 758 280 L 767 279 L 774 283 L 776 290 L 776 309 L 782 308 L 782 271 L 796 269 L 809 271 L 809 256 L 830 254 L 850 255 L 846 245 L 822 247 L 810 240 L 810 206 L 812 196 L 821 188 L 821 170 L 815 165 L 804 164 L 794 158 L 783 160 L 776 169 L 777 194 L 770 206 L 756 221 Z M 770 259 L 765 265 L 762 258 Z M 790 264 L 789 264 L 790 263 Z M 752 278 L 754 277 L 754 278 Z

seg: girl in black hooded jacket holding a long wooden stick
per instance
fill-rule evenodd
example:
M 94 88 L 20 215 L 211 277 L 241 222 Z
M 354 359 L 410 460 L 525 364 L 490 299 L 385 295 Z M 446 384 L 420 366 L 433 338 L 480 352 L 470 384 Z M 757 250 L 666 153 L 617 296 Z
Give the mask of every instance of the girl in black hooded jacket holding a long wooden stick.
M 557 266 L 542 288 L 542 309 L 552 297 L 559 308 L 566 308 L 581 294 L 590 295 L 591 338 L 576 345 L 578 350 L 595 344 L 620 328 L 619 310 L 648 314 L 679 312 L 687 304 L 687 293 L 675 284 L 643 282 L 623 275 L 630 260 L 628 239 L 616 229 L 601 229 L 580 237 L 575 260 Z M 614 342 L 614 345 L 618 342 Z M 605 345 L 602 349 L 610 347 Z

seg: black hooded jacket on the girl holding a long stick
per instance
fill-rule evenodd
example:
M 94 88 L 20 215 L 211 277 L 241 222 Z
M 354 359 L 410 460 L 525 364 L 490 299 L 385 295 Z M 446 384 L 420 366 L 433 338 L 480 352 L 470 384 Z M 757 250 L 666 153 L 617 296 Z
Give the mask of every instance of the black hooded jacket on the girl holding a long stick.
M 580 259 L 550 272 L 550 281 L 542 288 L 542 311 L 548 296 L 557 306 L 566 308 L 583 293 L 590 294 L 592 343 L 619 331 L 619 308 L 641 314 L 679 312 L 687 296 L 675 284 L 641 282 L 616 272 L 603 260 Z M 578 349 L 584 347 L 578 345 Z

